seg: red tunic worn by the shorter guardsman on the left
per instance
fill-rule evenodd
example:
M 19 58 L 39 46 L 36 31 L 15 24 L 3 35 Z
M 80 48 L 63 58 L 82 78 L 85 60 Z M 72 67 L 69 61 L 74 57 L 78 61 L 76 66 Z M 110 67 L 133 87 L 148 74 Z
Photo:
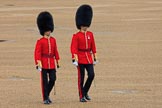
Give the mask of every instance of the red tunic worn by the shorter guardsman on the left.
M 56 39 L 54 37 L 42 37 L 37 40 L 34 58 L 36 65 L 38 64 L 37 60 L 41 61 L 43 69 L 55 69 L 55 60 L 60 59 Z

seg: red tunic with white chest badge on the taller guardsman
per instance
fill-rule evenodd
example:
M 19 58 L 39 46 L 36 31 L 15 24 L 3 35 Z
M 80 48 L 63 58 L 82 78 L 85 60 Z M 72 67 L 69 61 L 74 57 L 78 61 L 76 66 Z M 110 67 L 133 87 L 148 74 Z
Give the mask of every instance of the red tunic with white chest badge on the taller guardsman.
M 92 54 L 96 53 L 93 33 L 87 31 L 74 34 L 71 41 L 71 53 L 72 58 L 74 58 L 74 54 L 78 56 L 79 64 L 92 64 Z

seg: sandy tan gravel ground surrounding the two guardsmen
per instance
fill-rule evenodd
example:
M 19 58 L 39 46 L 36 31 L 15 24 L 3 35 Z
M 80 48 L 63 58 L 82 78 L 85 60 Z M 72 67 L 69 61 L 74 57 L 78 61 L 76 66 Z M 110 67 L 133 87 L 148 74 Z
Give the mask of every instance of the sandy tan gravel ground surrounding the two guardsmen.
M 0 0 L 0 108 L 162 108 L 161 0 Z M 77 32 L 74 17 L 91 4 L 99 63 L 92 101 L 78 101 L 77 71 L 70 42 Z M 36 17 L 50 11 L 58 43 L 53 104 L 42 104 L 40 75 L 33 51 L 40 38 Z M 3 42 L 2 40 L 7 40 Z

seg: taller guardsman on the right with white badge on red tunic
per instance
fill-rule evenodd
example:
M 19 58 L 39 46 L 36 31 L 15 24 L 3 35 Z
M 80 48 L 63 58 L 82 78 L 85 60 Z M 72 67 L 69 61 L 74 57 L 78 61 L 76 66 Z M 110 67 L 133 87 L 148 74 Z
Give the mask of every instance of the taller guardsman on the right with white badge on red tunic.
M 73 35 L 71 41 L 72 62 L 78 69 L 78 90 L 80 102 L 91 100 L 88 91 L 94 79 L 94 64 L 96 64 L 96 45 L 93 33 L 88 31 L 93 12 L 89 5 L 82 5 L 76 12 L 76 26 L 79 32 Z M 85 70 L 88 78 L 84 84 Z

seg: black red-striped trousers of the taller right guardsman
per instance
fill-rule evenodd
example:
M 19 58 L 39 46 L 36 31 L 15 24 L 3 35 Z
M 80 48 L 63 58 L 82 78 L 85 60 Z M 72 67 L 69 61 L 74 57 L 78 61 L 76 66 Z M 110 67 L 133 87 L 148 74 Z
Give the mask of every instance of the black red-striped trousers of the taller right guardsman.
M 84 84 L 85 69 L 87 71 L 88 78 Z M 83 98 L 89 91 L 92 81 L 94 79 L 94 67 L 93 64 L 79 64 L 78 65 L 78 90 L 79 98 Z

